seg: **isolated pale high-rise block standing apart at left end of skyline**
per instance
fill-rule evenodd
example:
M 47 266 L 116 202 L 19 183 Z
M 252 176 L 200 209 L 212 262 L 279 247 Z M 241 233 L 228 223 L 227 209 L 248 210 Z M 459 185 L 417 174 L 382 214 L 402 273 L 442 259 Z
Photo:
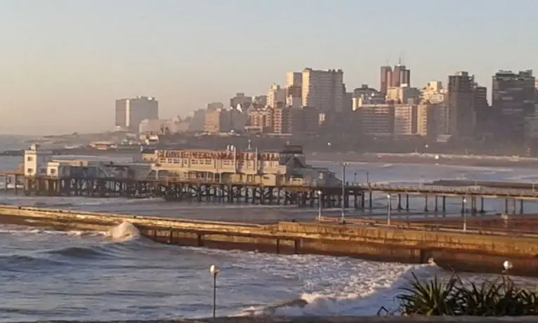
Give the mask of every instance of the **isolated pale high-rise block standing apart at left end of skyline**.
M 116 100 L 115 119 L 118 129 L 138 132 L 142 120 L 159 119 L 159 102 L 151 96 Z

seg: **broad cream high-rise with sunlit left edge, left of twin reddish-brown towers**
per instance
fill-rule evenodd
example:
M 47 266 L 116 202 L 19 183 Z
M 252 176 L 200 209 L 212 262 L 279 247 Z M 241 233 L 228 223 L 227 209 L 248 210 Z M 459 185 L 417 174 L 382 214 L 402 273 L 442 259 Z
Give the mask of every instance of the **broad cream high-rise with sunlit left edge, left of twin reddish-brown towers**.
M 323 113 L 342 112 L 343 94 L 342 70 L 303 70 L 303 106 Z

